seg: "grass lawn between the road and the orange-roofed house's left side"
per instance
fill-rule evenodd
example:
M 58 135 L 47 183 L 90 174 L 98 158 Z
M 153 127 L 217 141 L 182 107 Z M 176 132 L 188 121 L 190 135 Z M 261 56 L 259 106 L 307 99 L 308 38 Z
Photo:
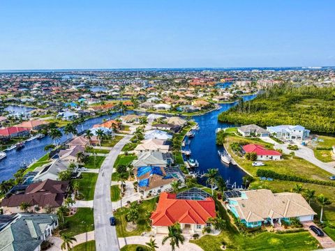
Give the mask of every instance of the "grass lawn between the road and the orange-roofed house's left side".
M 147 211 L 154 211 L 156 208 L 156 202 L 158 197 L 145 200 L 142 204 L 139 205 L 139 217 L 137 220 L 137 229 L 134 231 L 126 231 L 126 212 L 127 208 L 119 208 L 117 212 L 114 213 L 115 218 L 117 219 L 117 236 L 118 237 L 127 237 L 127 236 L 139 236 L 142 232 L 147 231 L 146 227 L 146 218 L 145 213 Z M 125 201 L 126 202 L 126 201 Z

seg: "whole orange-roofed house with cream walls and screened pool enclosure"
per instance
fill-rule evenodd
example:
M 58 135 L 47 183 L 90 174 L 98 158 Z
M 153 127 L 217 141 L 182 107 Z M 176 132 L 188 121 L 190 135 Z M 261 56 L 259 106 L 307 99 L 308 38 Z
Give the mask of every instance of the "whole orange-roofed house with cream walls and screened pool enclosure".
M 177 195 L 161 193 L 156 211 L 150 218 L 156 234 L 168 234 L 168 227 L 176 222 L 179 222 L 184 234 L 202 233 L 204 227 L 211 227 L 208 220 L 216 217 L 214 199 L 206 192 L 198 191 L 198 188 L 186 192 Z M 198 197 L 193 193 L 198 193 Z

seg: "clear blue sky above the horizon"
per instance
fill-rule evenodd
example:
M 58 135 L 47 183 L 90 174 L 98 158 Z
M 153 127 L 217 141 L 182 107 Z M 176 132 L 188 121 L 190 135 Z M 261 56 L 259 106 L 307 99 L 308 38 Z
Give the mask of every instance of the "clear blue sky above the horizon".
M 334 0 L 0 0 L 0 69 L 335 66 Z

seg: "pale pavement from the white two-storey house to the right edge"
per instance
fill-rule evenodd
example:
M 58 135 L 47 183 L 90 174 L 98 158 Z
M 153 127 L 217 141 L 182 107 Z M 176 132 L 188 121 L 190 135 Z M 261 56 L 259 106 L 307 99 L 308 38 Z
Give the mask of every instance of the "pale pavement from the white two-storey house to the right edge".
M 276 144 L 274 146 L 274 149 L 281 149 L 283 150 L 283 153 L 289 154 L 291 150 L 287 149 L 288 144 Z M 315 158 L 314 152 L 312 149 L 308 148 L 307 146 L 301 146 L 299 145 L 299 150 L 294 151 L 295 155 L 299 158 L 303 158 L 304 160 L 307 160 L 308 162 L 311 162 L 312 164 L 324 169 L 325 171 L 334 174 L 335 175 L 335 161 L 332 162 L 322 162 Z

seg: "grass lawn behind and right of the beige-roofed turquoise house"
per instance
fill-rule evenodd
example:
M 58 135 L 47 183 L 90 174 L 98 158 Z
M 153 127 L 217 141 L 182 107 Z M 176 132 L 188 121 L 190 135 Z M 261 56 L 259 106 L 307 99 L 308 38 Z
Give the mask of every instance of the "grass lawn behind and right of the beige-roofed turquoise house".
M 272 192 L 290 192 L 295 184 L 301 184 L 303 189 L 313 189 L 315 190 L 315 195 L 320 195 L 321 193 L 328 197 L 333 203 L 329 206 L 324 207 L 323 220 L 329 220 L 335 222 L 335 188 L 327 185 L 316 185 L 310 183 L 299 183 L 295 181 L 260 181 L 257 179 L 251 184 L 251 188 L 265 188 L 271 189 Z M 321 208 L 316 203 L 311 203 L 311 206 L 315 213 L 320 216 Z

